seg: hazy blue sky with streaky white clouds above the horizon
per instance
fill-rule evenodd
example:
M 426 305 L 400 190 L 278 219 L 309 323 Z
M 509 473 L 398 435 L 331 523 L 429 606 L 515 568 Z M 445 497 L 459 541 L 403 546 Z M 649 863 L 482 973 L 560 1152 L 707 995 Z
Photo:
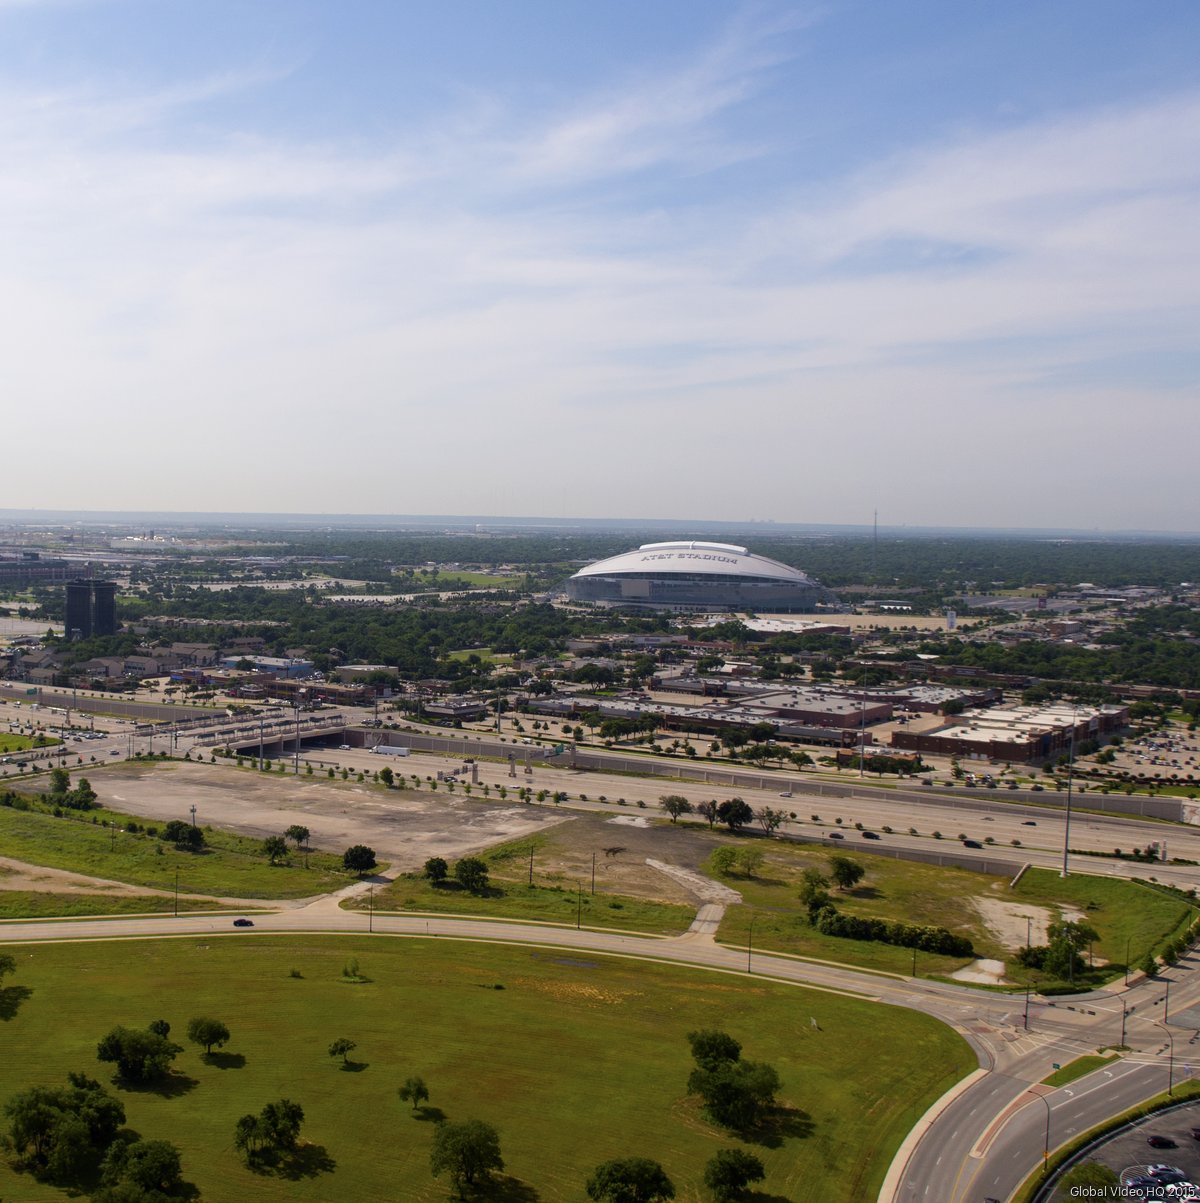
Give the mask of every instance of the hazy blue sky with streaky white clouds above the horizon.
M 1198 46 L 0 0 L 0 505 L 1200 531 Z

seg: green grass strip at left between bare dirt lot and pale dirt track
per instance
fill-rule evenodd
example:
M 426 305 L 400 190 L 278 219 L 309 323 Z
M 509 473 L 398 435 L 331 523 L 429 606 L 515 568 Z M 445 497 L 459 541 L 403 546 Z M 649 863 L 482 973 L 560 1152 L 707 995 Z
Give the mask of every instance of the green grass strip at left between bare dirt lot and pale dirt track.
M 305 869 L 304 854 L 293 851 L 290 864 L 272 866 L 259 851 L 260 841 L 208 828 L 206 851 L 178 852 L 144 832 L 120 830 L 129 820 L 125 814 L 72 811 L 55 818 L 41 802 L 28 805 L 0 806 L 0 847 L 5 855 L 34 865 L 171 890 L 178 869 L 180 890 L 216 897 L 307 897 L 354 881 L 341 870 L 340 855 L 310 853 Z

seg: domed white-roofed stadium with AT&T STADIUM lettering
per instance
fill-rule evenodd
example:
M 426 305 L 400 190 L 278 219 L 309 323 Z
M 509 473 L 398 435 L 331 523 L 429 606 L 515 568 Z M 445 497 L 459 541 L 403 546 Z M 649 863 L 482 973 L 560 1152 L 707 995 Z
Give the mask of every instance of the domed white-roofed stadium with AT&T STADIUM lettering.
M 566 582 L 574 602 L 643 610 L 809 612 L 828 593 L 777 559 L 727 543 L 647 543 Z

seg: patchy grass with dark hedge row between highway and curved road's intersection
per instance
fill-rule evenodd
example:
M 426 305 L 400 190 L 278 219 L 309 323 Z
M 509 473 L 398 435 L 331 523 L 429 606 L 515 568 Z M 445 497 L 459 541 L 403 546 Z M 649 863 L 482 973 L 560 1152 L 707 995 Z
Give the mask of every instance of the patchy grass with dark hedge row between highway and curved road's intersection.
M 747 842 L 736 846 L 747 847 Z M 827 876 L 830 852 L 784 845 L 771 845 L 764 851 L 766 860 L 755 877 L 718 878 L 726 881 L 745 900 L 744 906 L 726 912 L 718 934 L 720 941 L 745 944 L 753 919 L 756 948 L 895 973 L 911 972 L 911 949 L 825 936 L 808 924 L 807 912 L 797 896 L 801 877 L 806 869 L 814 866 Z M 831 889 L 838 909 L 949 928 L 969 936 L 978 955 L 997 960 L 1008 960 L 1012 953 L 988 930 L 979 911 L 969 903 L 970 899 L 1034 903 L 1046 907 L 1056 918 L 1064 909 L 1080 912 L 1100 934 L 1094 949 L 1097 958 L 1122 966 L 1127 940 L 1130 960 L 1137 964 L 1193 913 L 1182 899 L 1121 878 L 1075 875 L 1064 879 L 1048 870 L 1029 870 L 1012 890 L 1008 878 L 966 869 L 872 857 L 857 849 L 850 859 L 862 864 L 867 873 L 851 890 Z M 966 964 L 964 959 L 917 953 L 916 971 L 920 976 L 941 977 Z M 1101 972 L 1100 977 L 1111 977 L 1112 972 Z M 1023 983 L 1026 971 L 1010 962 L 1009 977 Z

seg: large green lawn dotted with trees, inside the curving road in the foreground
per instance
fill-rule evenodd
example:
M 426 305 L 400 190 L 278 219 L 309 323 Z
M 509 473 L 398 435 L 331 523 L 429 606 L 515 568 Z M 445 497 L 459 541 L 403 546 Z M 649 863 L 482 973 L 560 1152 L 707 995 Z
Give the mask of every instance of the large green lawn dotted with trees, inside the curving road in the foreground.
M 916 1012 L 653 962 L 381 936 L 11 950 L 0 1102 L 71 1069 L 107 1083 L 95 1047 L 114 1024 L 161 1017 L 174 1037 L 195 1015 L 226 1021 L 215 1063 L 189 1045 L 170 1091 L 119 1092 L 131 1127 L 179 1145 L 206 1203 L 446 1199 L 428 1162 L 439 1115 L 499 1128 L 512 1177 L 491 1197 L 507 1203 L 574 1203 L 618 1156 L 661 1161 L 682 1203 L 707 1203 L 705 1162 L 741 1142 L 685 1094 L 685 1033 L 700 1024 L 730 1031 L 783 1080 L 788 1113 L 749 1146 L 767 1169 L 755 1198 L 857 1203 L 877 1196 L 928 1103 L 975 1068 L 958 1036 Z M 341 980 L 350 958 L 367 983 Z M 341 1036 L 357 1042 L 352 1072 L 326 1053 Z M 411 1074 L 429 1085 L 424 1118 L 396 1095 Z M 233 1124 L 280 1096 L 304 1108 L 310 1144 L 293 1177 L 253 1173 Z M 0 1162 L 0 1197 L 65 1195 Z

